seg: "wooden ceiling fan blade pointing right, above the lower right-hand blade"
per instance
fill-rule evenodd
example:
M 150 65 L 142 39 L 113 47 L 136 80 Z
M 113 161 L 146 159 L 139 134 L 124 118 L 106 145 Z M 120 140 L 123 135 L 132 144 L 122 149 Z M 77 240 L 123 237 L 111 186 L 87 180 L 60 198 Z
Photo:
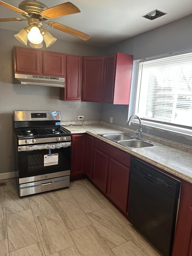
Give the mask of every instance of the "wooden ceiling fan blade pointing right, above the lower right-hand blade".
M 78 7 L 73 5 L 70 2 L 53 6 L 49 9 L 46 9 L 40 12 L 40 15 L 46 19 L 53 19 L 61 16 L 65 16 L 68 14 L 81 12 Z

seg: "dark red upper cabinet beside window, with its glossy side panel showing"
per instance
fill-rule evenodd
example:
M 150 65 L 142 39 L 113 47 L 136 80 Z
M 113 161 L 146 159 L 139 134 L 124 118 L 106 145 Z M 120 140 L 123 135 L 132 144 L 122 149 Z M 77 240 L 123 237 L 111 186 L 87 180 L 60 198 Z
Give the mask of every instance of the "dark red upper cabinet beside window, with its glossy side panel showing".
M 116 53 L 106 57 L 103 102 L 129 104 L 133 55 Z

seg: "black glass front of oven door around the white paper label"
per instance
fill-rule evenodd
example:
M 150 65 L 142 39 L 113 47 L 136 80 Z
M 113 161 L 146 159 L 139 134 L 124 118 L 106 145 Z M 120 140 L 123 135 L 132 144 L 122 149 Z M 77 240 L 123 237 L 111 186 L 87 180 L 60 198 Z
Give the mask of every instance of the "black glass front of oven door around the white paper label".
M 48 149 L 19 151 L 19 178 L 70 170 L 70 151 L 71 147 L 51 149 L 51 155 L 58 154 L 58 163 L 54 165 L 44 164 L 44 155 L 49 155 Z

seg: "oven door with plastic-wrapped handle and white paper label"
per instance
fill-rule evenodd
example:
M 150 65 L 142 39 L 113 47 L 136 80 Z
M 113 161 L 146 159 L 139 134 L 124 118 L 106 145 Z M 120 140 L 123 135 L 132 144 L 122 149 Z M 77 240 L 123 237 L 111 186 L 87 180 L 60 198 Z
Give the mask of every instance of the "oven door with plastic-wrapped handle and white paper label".
M 71 142 L 18 146 L 19 184 L 70 174 Z

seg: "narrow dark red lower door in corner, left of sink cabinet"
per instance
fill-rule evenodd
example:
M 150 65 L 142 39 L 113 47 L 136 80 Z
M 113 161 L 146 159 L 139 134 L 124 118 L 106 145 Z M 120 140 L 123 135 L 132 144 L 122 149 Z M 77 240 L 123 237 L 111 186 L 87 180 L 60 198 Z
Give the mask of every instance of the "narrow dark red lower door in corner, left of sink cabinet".
M 93 146 L 94 146 L 94 138 L 86 135 L 86 165 L 85 165 L 85 173 L 92 179 L 92 169 L 93 169 Z

